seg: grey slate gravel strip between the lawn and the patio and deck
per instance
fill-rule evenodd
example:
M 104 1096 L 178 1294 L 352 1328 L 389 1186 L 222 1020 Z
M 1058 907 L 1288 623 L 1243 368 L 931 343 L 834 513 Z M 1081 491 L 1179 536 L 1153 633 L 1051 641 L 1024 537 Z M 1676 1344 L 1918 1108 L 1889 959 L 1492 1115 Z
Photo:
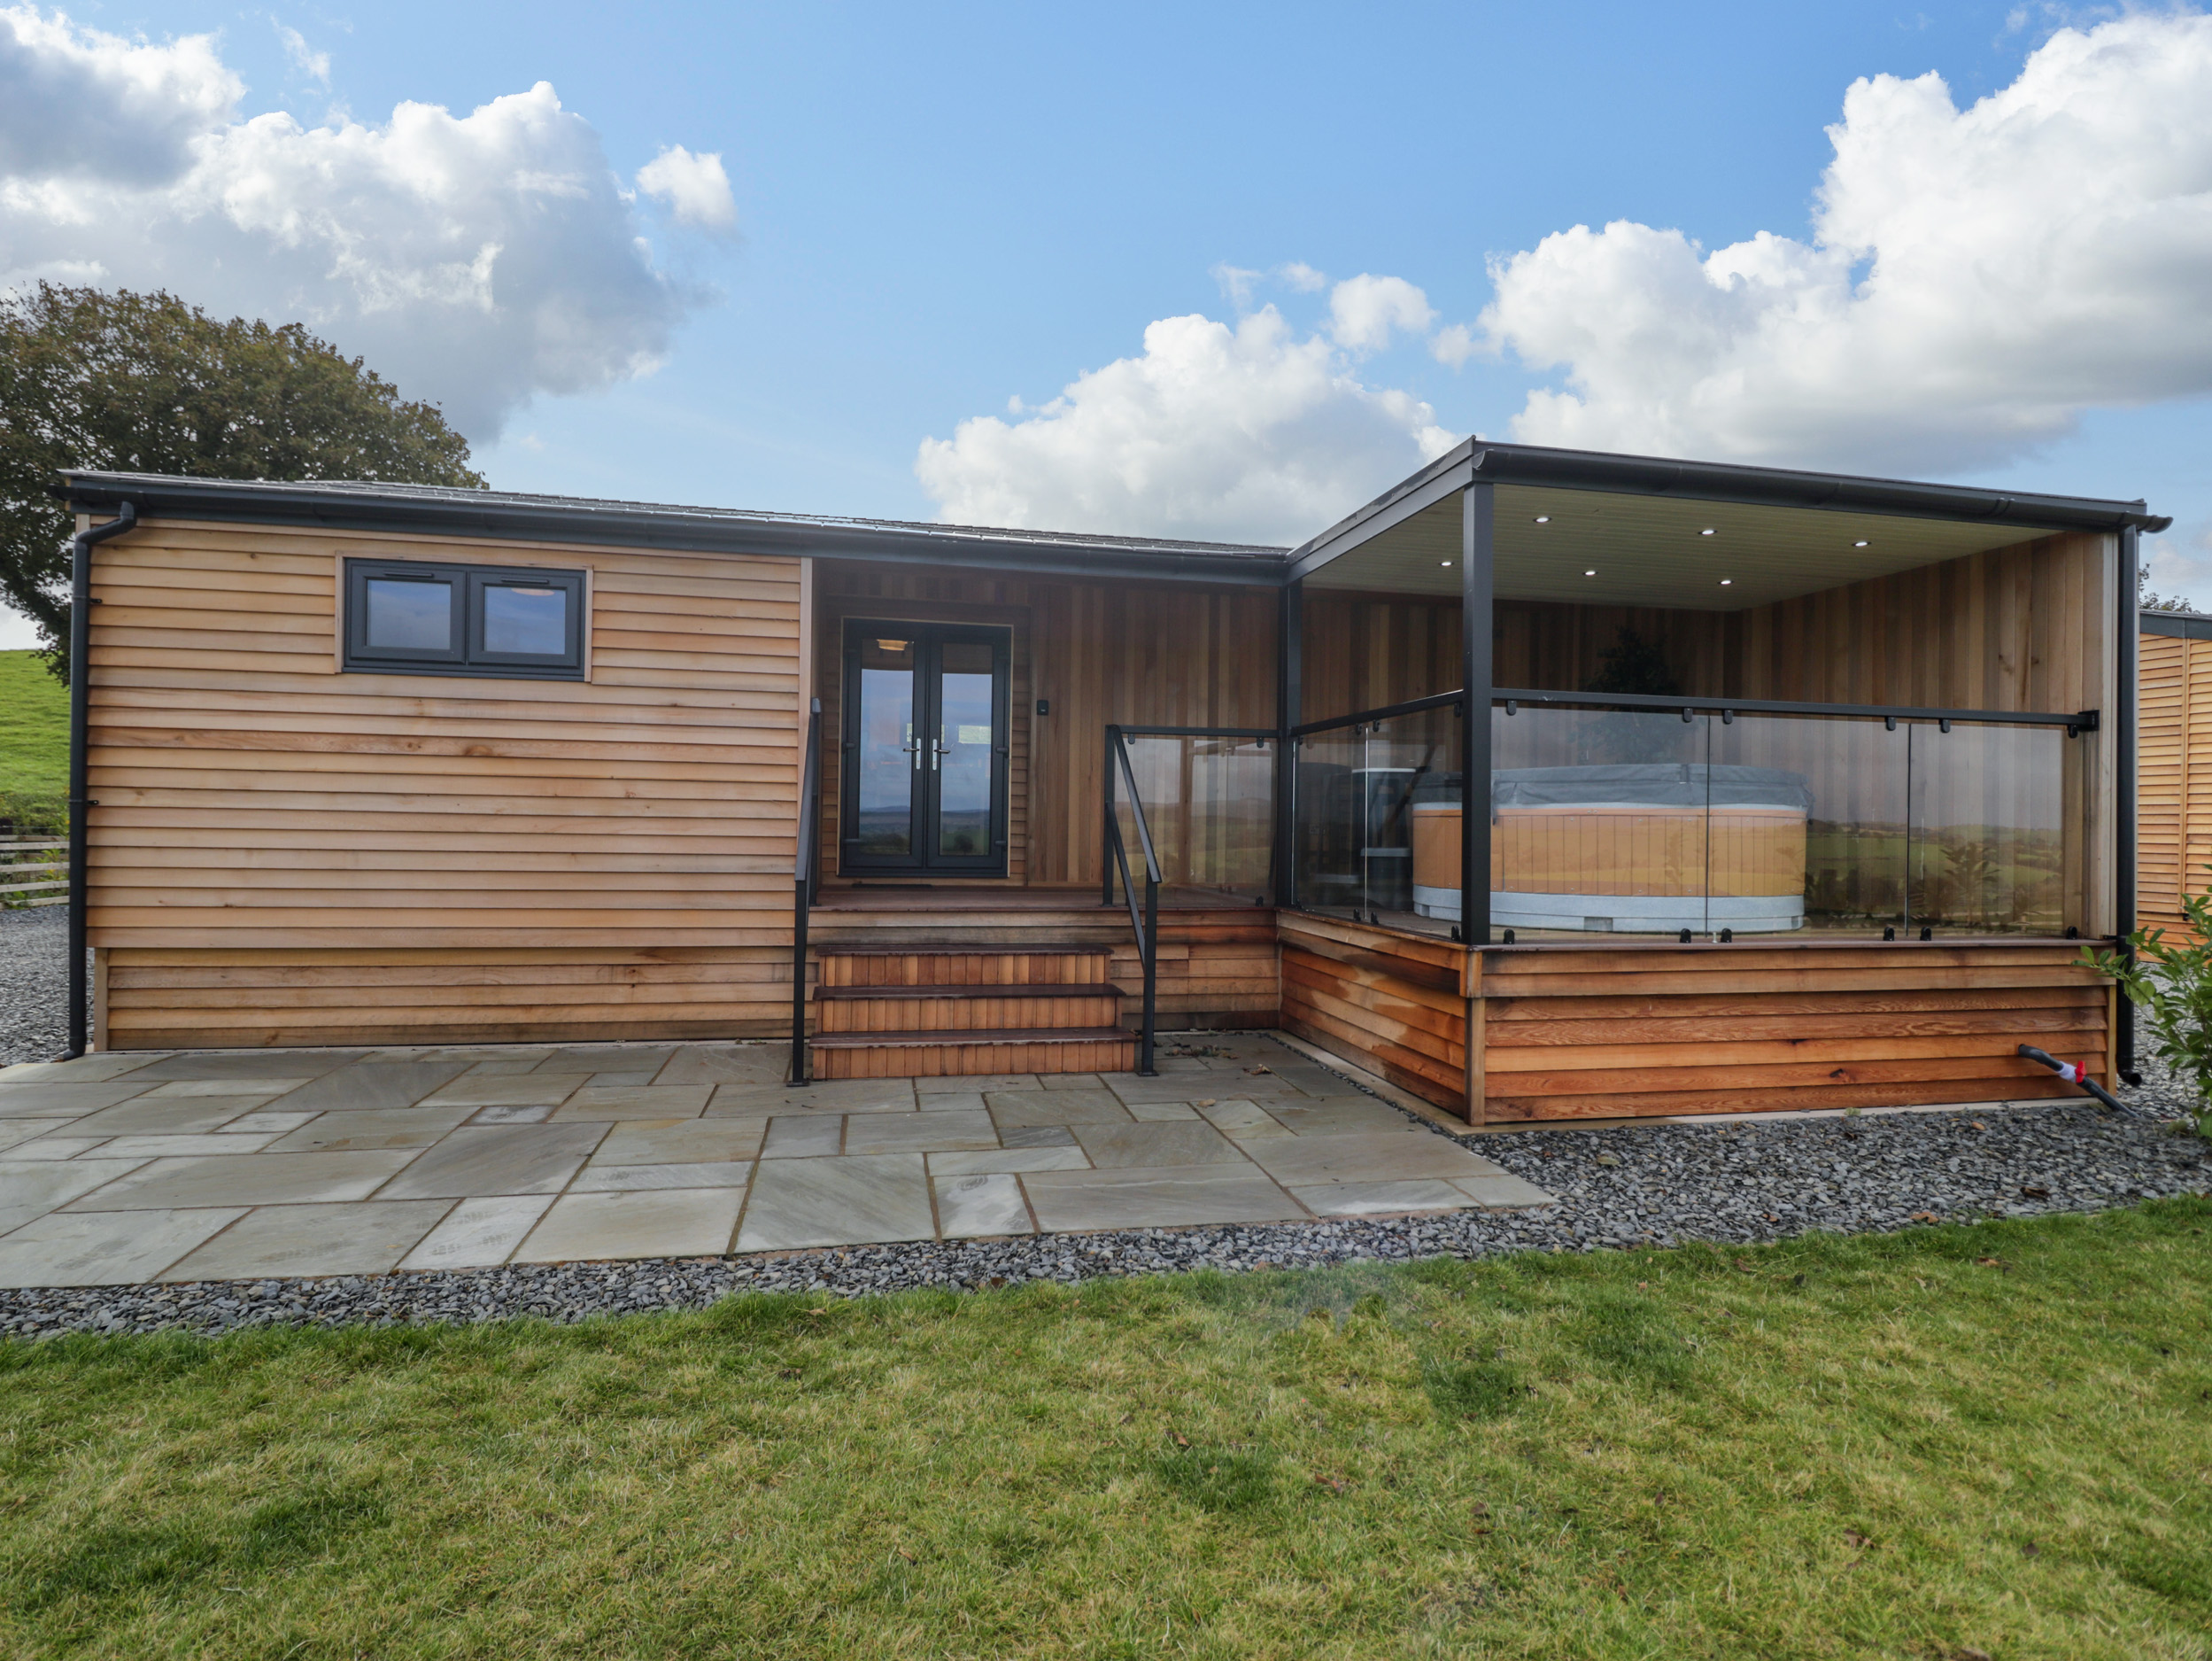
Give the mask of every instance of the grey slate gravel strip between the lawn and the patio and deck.
M 327 1281 L 0 1292 L 0 1334 L 234 1331 L 274 1325 L 414 1325 L 535 1316 L 553 1323 L 699 1309 L 734 1292 L 858 1296 L 975 1289 L 1175 1270 L 1323 1267 L 1500 1252 L 1586 1252 L 1683 1241 L 1778 1241 L 1938 1221 L 2088 1212 L 2212 1188 L 2212 1143 L 2141 1110 L 2093 1104 L 1745 1119 L 1467 1137 L 1482 1157 L 1559 1194 L 1533 1212 L 1046 1234 L 801 1252 L 529 1265 Z M 2132 1106 L 2132 1104 L 2130 1104 Z M 1444 1132 L 1438 1132 L 1444 1135 Z

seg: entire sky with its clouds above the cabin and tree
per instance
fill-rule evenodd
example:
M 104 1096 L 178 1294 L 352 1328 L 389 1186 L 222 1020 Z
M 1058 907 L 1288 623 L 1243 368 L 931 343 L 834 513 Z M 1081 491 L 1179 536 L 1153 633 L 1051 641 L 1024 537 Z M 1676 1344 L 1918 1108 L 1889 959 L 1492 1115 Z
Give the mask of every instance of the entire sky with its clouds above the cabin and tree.
M 1294 544 L 1482 433 L 2148 498 L 2212 608 L 2192 9 L 0 4 L 38 276 L 500 489 Z

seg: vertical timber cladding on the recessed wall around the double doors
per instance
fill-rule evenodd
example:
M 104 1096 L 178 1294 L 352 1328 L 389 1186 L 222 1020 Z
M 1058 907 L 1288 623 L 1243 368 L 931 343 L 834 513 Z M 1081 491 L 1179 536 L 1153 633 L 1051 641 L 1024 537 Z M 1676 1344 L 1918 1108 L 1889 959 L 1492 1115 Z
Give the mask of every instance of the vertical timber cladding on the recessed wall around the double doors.
M 814 661 L 823 732 L 843 732 L 843 626 L 995 624 L 1013 630 L 1006 885 L 1104 871 L 1106 725 L 1272 728 L 1272 588 L 1000 577 L 816 560 Z M 1037 701 L 1051 714 L 1037 714 Z M 838 754 L 823 745 L 823 869 L 836 874 Z M 982 887 L 975 882 L 973 887 Z

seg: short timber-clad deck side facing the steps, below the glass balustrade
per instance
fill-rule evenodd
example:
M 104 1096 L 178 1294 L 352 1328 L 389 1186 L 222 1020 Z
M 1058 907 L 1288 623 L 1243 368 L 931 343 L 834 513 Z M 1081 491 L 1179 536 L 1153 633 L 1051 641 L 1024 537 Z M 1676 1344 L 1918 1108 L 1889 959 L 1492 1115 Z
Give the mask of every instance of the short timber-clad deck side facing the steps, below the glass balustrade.
M 1449 1112 L 1467 1112 L 1467 951 L 1281 911 L 1283 1026 Z

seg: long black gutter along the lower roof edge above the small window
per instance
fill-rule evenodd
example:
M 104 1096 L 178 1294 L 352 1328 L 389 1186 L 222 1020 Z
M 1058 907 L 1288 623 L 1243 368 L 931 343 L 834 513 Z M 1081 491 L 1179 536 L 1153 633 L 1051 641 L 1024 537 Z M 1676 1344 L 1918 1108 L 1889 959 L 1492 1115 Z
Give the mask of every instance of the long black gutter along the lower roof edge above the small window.
M 998 566 L 1068 577 L 1152 577 L 1234 586 L 1283 582 L 1281 549 L 1175 544 L 1141 537 L 1082 537 L 1020 531 L 984 535 L 964 526 L 872 520 L 801 520 L 668 509 L 650 504 L 560 504 L 480 491 L 409 495 L 400 489 L 316 489 L 234 480 L 170 480 L 69 473 L 71 506 L 102 509 L 124 495 L 146 513 L 210 522 L 305 524 L 323 531 L 411 531 L 524 542 L 588 542 L 681 553 L 772 553 L 818 560 Z M 482 500 L 471 500 L 482 498 Z

